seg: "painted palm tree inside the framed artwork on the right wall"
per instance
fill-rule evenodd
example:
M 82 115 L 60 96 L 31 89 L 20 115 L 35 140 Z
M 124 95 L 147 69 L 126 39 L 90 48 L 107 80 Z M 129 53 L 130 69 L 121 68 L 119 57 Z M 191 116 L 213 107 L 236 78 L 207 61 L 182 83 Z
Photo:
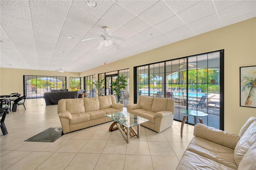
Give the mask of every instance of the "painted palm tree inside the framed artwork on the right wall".
M 254 94 L 256 93 L 256 71 L 252 70 L 249 74 L 243 75 L 242 80 L 242 91 L 245 92 L 244 94 L 247 96 L 245 101 L 246 106 L 251 106 Z M 248 94 L 249 91 L 249 94 Z

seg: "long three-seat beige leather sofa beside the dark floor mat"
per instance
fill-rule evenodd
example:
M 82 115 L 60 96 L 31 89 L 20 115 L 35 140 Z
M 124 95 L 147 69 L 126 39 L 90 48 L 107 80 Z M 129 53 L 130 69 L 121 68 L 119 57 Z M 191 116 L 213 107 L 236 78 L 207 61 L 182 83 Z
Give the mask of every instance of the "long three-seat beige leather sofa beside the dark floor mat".
M 64 134 L 112 121 L 105 115 L 123 109 L 124 105 L 116 103 L 114 95 L 61 99 L 58 102 L 58 115 Z

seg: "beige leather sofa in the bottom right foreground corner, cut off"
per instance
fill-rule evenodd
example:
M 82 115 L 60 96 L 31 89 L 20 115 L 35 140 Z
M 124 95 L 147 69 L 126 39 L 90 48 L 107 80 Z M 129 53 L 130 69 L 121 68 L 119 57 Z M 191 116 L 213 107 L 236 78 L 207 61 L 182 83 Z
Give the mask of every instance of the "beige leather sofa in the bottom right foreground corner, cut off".
M 256 117 L 239 135 L 197 124 L 176 170 L 256 170 Z

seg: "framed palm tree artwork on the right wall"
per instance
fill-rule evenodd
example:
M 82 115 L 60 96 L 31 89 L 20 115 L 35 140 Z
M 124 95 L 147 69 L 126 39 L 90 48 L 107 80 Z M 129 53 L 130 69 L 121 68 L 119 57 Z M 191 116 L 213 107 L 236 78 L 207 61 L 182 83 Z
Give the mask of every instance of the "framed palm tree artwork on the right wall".
M 256 108 L 256 65 L 240 67 L 240 106 Z

